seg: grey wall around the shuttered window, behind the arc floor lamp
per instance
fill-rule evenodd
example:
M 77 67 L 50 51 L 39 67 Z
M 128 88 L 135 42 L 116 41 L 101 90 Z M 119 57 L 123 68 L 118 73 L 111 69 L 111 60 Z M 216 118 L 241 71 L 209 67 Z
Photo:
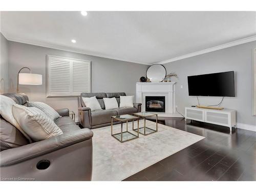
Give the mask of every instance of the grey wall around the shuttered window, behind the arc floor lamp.
M 57 55 L 92 61 L 92 92 L 125 92 L 136 94 L 136 82 L 145 75 L 148 66 L 120 60 L 95 57 L 79 53 L 44 48 L 9 41 L 9 92 L 16 91 L 17 72 L 26 66 L 32 73 L 42 74 L 42 86 L 20 85 L 20 92 L 29 96 L 31 101 L 46 102 L 54 109 L 69 108 L 77 115 L 77 97 L 46 97 L 46 55 Z M 23 72 L 26 72 L 24 70 Z M 78 116 L 76 116 L 78 117 Z

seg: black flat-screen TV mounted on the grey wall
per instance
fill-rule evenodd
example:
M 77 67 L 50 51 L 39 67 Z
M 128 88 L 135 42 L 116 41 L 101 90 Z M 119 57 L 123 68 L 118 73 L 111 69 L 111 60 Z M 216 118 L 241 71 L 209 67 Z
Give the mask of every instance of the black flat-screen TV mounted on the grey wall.
M 189 96 L 234 97 L 234 72 L 187 77 Z

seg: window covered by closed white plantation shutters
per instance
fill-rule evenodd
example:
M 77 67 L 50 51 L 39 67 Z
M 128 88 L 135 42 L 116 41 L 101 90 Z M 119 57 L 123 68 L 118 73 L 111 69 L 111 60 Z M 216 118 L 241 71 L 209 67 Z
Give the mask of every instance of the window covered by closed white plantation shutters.
M 91 92 L 91 61 L 47 55 L 47 97 Z

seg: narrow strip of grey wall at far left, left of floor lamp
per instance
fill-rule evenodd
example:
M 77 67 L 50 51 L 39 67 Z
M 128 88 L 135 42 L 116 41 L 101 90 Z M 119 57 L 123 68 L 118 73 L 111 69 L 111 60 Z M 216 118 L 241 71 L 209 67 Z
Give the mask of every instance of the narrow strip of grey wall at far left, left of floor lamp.
M 8 40 L 0 33 L 0 93 L 8 91 Z

